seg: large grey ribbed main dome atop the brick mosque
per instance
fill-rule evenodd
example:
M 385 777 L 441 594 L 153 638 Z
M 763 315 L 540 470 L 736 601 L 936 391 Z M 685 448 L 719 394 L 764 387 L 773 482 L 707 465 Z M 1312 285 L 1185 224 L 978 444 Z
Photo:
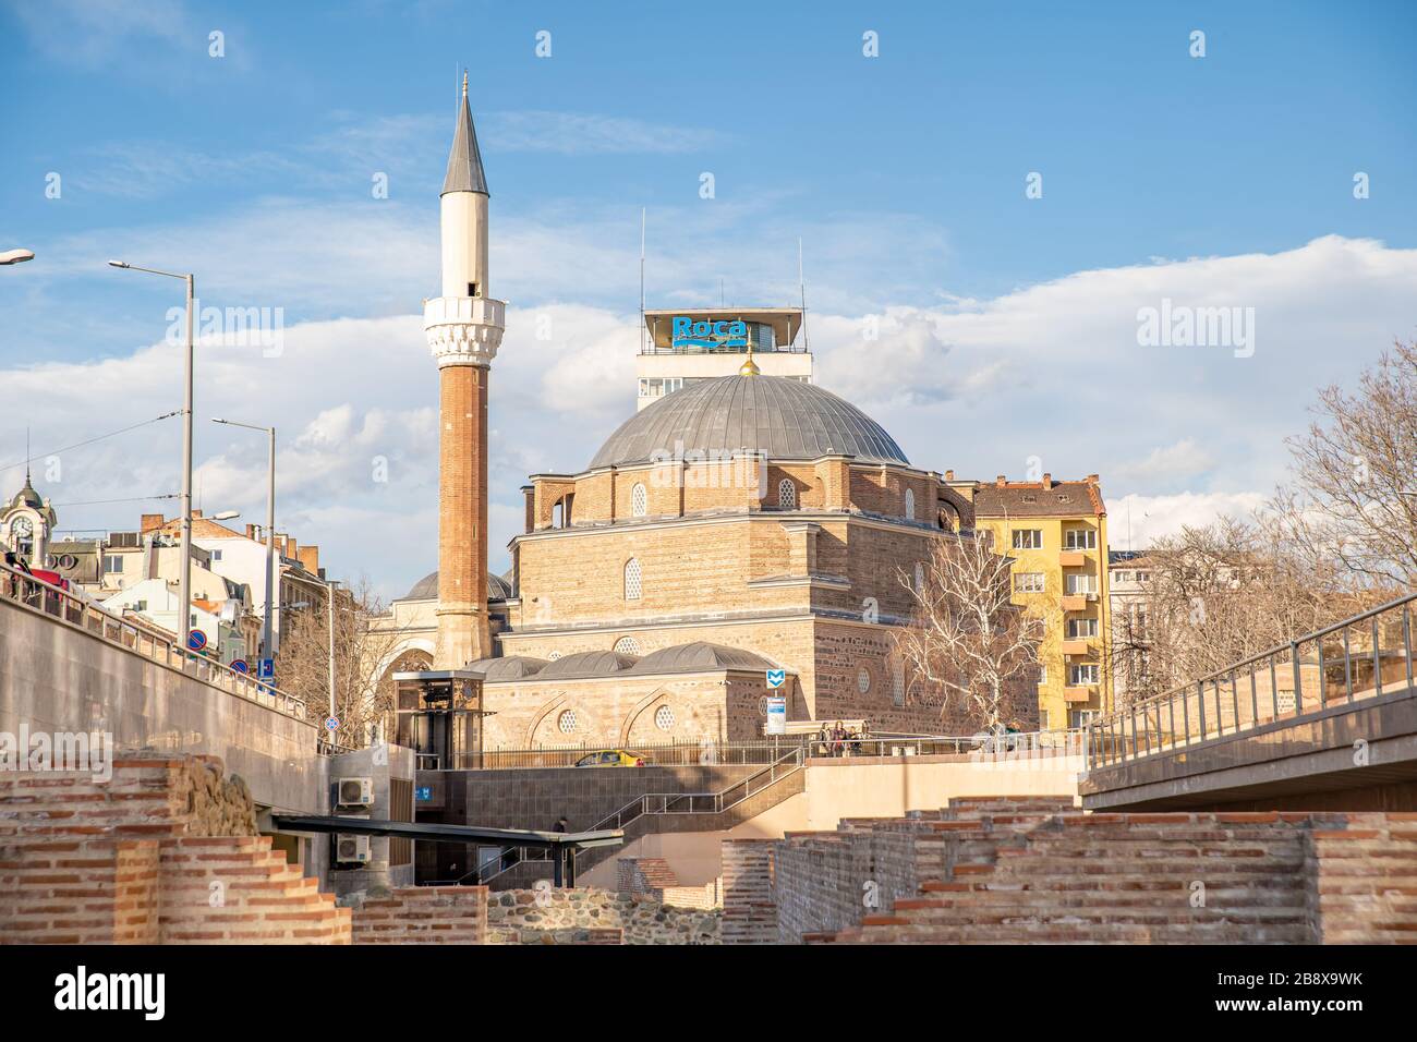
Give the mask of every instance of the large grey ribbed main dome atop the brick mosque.
M 589 469 L 643 464 L 683 452 L 761 452 L 768 459 L 853 455 L 862 462 L 910 461 L 856 405 L 801 380 L 724 376 L 674 391 L 621 424 Z

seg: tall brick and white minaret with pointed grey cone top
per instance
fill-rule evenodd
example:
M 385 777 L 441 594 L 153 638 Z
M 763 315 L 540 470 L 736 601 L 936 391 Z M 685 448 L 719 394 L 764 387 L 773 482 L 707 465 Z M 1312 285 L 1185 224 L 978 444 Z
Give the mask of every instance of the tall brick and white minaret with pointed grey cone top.
M 444 179 L 442 296 L 424 302 L 438 360 L 438 645 L 435 669 L 492 655 L 487 628 L 487 374 L 506 303 L 487 296 L 487 179 L 468 108 L 468 74 Z

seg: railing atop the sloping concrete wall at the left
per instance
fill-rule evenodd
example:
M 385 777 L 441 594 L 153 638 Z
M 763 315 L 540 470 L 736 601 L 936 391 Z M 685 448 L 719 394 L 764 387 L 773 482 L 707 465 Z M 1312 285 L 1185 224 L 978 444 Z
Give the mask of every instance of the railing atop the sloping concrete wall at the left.
M 7 564 L 0 564 L 0 598 L 28 611 L 48 615 L 62 625 L 82 629 L 106 644 L 176 669 L 213 688 L 220 688 L 228 695 L 305 719 L 305 699 L 262 683 L 248 673 L 238 673 L 213 658 L 188 651 L 166 629 L 115 615 L 86 597 L 61 590 Z

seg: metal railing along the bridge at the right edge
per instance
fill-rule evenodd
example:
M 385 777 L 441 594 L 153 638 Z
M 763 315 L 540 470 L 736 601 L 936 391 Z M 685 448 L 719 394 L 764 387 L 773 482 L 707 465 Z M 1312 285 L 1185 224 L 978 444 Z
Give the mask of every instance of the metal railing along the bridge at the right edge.
M 1411 690 L 1414 603 L 1417 593 L 1399 597 L 1098 717 L 1088 770 Z

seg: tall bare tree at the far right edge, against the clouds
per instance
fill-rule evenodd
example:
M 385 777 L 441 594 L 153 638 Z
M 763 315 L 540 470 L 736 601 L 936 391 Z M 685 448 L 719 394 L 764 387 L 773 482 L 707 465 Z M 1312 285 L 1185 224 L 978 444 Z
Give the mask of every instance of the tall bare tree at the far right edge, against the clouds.
M 1275 495 L 1275 522 L 1311 561 L 1417 586 L 1417 343 L 1383 352 L 1356 393 L 1323 388 L 1312 411 L 1289 439 L 1295 482 Z

